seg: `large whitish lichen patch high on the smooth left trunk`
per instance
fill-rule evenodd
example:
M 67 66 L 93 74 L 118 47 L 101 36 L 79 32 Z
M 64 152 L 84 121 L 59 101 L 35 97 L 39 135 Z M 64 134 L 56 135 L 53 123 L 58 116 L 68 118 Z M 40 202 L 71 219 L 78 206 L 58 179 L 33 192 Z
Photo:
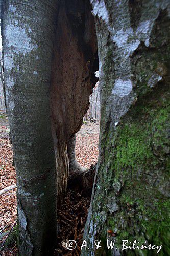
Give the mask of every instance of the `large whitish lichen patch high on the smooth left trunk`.
M 8 24 L 5 31 L 8 46 L 13 48 L 13 53 L 27 54 L 38 48 L 36 44 L 32 43 L 31 38 L 28 36 L 25 28 Z

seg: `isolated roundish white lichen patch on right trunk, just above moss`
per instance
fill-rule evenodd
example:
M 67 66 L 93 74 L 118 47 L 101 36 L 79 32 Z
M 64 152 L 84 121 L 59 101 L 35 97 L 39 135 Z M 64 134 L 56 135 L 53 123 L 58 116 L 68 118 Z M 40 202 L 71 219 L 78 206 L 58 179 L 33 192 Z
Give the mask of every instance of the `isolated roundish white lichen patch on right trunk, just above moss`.
M 119 97 L 125 97 L 132 91 L 132 82 L 130 79 L 124 81 L 122 79 L 115 80 L 114 87 L 112 89 L 112 94 Z

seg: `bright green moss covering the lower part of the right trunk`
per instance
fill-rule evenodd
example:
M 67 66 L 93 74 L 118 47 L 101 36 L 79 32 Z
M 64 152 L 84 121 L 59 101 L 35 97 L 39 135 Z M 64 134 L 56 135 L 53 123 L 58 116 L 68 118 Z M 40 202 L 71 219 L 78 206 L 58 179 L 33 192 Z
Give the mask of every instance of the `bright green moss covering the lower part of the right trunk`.
M 111 195 L 116 197 L 119 207 L 113 217 L 108 214 L 103 235 L 106 236 L 108 229 L 115 231 L 118 248 L 123 239 L 162 244 L 160 255 L 169 253 L 167 234 L 170 230 L 169 198 L 164 195 L 169 171 L 170 110 L 165 90 L 141 97 L 116 131 L 108 129 L 109 133 L 104 134 L 105 159 L 99 179 L 101 184 L 105 181 L 105 187 L 99 184 L 99 192 L 96 190 L 96 202 L 102 202 L 102 210 L 108 212 L 106 200 Z M 127 255 L 133 253 L 130 251 Z M 135 253 L 156 254 L 148 250 Z

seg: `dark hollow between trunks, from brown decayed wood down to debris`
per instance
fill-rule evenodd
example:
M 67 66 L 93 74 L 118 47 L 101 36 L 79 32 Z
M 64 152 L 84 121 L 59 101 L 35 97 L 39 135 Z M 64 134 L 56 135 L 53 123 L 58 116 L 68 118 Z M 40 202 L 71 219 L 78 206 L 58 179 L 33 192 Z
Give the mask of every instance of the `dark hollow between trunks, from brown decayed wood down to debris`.
M 68 253 L 65 243 L 69 239 L 77 241 L 74 253 L 80 254 L 79 246 L 95 174 L 95 166 L 82 171 L 75 156 L 75 134 L 82 126 L 83 117 L 89 109 L 89 96 L 99 80 L 95 76 L 99 60 L 91 10 L 89 0 L 65 0 L 61 3 L 57 21 L 51 117 L 58 172 L 58 202 L 63 200 L 62 204 L 58 204 L 56 255 Z

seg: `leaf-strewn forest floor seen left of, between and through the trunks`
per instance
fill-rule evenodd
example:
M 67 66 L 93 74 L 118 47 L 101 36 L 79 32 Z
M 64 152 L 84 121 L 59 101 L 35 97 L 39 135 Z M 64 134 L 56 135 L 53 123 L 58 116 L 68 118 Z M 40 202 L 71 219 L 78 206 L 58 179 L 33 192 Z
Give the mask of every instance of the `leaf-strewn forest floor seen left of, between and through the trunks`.
M 76 156 L 81 166 L 90 168 L 98 161 L 99 125 L 84 122 L 76 136 Z M 13 166 L 13 151 L 9 139 L 7 115 L 0 113 L 0 190 L 16 184 L 16 173 Z M 0 196 L 0 245 L 6 240 L 16 223 L 16 189 Z M 80 255 L 84 225 L 90 198 L 84 197 L 81 191 L 67 191 L 62 208 L 58 210 L 58 243 L 55 255 Z M 68 251 L 66 242 L 77 241 L 77 249 Z M 17 255 L 16 246 L 0 251 L 0 255 Z

